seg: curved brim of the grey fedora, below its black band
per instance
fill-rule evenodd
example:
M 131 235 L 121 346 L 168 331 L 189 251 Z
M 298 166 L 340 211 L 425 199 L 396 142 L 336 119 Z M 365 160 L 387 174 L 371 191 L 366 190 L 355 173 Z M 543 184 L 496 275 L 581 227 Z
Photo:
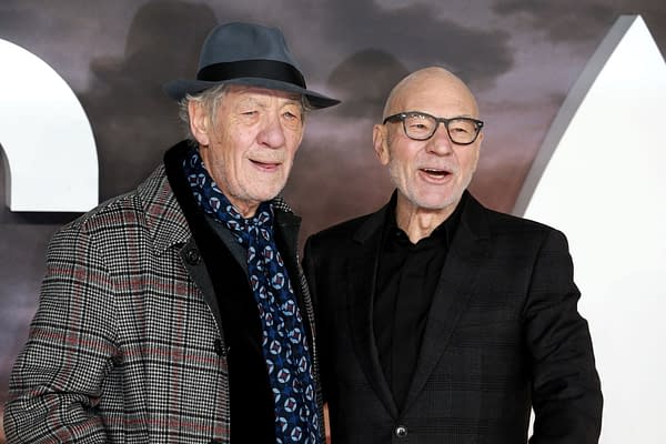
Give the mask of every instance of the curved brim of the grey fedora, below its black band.
M 229 79 L 220 82 L 209 82 L 204 80 L 173 80 L 164 84 L 164 92 L 173 100 L 182 100 L 186 94 L 195 94 L 220 84 L 242 84 L 256 88 L 265 88 L 269 90 L 295 92 L 303 94 L 312 108 L 321 109 L 329 108 L 340 103 L 340 100 L 332 99 L 319 92 L 314 92 L 296 84 L 283 82 L 273 79 L 263 79 L 255 77 L 243 77 L 238 79 Z

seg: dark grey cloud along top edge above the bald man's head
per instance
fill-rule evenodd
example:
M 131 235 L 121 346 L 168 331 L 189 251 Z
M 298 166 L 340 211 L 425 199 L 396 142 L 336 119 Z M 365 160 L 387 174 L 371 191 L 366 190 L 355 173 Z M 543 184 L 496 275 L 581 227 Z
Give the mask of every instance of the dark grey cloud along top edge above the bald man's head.
M 385 9 L 372 0 L 331 2 L 321 28 L 349 53 L 376 50 L 412 68 L 443 65 L 474 85 L 513 65 L 508 32 L 474 29 L 441 18 L 441 3 Z M 344 32 L 341 32 L 341 27 Z

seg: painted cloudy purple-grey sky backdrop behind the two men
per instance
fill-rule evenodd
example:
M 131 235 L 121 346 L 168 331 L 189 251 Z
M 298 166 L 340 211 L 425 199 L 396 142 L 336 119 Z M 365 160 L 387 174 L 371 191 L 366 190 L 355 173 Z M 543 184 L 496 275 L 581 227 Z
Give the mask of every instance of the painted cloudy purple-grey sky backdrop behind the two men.
M 392 85 L 432 64 L 456 72 L 476 93 L 486 135 L 471 188 L 511 212 L 569 88 L 624 13 L 643 16 L 664 54 L 663 0 L 2 0 L 0 39 L 49 63 L 81 100 L 105 200 L 132 189 L 181 138 L 176 107 L 161 84 L 194 75 L 214 24 L 280 27 L 309 87 L 343 100 L 309 118 L 285 190 L 304 219 L 303 239 L 387 199 L 371 128 Z M 0 209 L 0 403 L 37 304 L 46 243 L 71 218 Z

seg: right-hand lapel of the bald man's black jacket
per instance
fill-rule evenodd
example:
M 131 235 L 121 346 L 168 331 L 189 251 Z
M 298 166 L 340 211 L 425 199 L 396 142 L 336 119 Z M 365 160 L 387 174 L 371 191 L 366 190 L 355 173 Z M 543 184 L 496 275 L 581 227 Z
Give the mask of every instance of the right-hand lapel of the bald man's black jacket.
M 474 295 L 478 271 L 488 252 L 488 226 L 484 211 L 472 195 L 467 195 L 433 295 L 405 411 L 423 390 L 448 346 L 461 314 Z

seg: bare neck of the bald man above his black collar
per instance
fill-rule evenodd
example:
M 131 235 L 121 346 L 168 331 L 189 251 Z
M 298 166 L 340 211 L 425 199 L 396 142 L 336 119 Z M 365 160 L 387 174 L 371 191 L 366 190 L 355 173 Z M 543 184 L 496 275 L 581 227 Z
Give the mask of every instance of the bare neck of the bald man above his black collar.
M 427 238 L 454 212 L 458 201 L 443 209 L 424 209 L 397 194 L 395 222 L 407 234 L 410 242 L 416 243 Z

